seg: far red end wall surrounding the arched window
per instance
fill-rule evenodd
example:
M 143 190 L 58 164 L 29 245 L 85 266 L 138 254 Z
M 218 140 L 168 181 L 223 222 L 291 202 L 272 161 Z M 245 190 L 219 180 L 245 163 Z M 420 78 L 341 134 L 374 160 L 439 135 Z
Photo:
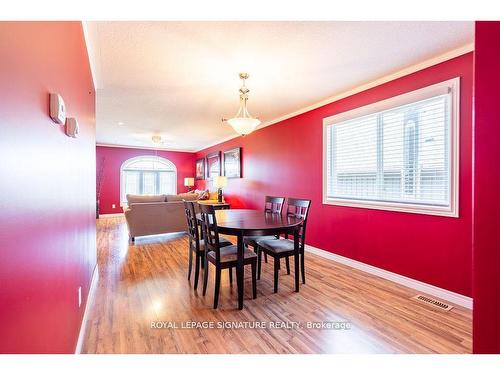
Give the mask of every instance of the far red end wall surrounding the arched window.
M 97 146 L 97 174 L 104 165 L 99 212 L 112 214 L 123 212 L 120 207 L 120 167 L 130 158 L 141 155 L 155 155 L 154 150 L 123 147 Z M 186 192 L 184 177 L 194 177 L 195 154 L 192 152 L 158 151 L 158 156 L 166 158 L 177 167 L 177 192 Z M 116 204 L 116 208 L 112 208 Z

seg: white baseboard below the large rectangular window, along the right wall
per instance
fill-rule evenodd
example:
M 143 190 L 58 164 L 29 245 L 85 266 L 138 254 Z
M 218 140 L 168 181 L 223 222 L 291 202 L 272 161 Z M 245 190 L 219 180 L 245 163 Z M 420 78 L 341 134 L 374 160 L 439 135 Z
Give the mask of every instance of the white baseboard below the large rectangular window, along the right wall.
M 327 258 L 335 262 L 344 264 L 346 266 L 356 268 L 360 271 L 364 271 L 366 273 L 379 276 L 383 279 L 393 281 L 395 283 L 404 285 L 408 288 L 418 290 L 419 292 L 422 293 L 430 294 L 439 299 L 443 299 L 455 305 L 459 305 L 472 310 L 472 298 L 464 296 L 462 294 L 458 294 L 443 288 L 439 288 L 437 286 L 427 284 L 422 281 L 411 279 L 409 277 L 402 276 L 394 272 L 386 271 L 382 268 L 370 266 L 369 264 L 358 262 L 357 260 L 346 258 L 341 255 L 334 254 L 326 250 L 318 249 L 313 246 L 306 245 L 305 250 L 310 252 L 311 254 L 315 254 L 320 257 Z

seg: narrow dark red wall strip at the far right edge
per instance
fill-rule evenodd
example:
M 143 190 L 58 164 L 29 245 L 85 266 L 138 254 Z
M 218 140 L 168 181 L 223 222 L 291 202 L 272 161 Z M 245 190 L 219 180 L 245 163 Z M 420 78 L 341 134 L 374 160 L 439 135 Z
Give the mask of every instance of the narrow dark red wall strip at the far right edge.
M 474 60 L 475 353 L 500 353 L 500 22 L 476 22 Z

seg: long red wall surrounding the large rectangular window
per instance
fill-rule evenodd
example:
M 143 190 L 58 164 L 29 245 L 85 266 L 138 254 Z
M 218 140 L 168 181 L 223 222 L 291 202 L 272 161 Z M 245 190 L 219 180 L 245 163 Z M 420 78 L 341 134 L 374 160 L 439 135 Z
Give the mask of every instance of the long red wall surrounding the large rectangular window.
M 472 60 L 472 53 L 460 56 L 210 147 L 197 157 L 241 146 L 243 178 L 229 180 L 224 190 L 233 208 L 261 208 L 265 195 L 310 198 L 309 245 L 470 296 Z M 461 77 L 459 218 L 321 203 L 324 117 L 457 76 Z

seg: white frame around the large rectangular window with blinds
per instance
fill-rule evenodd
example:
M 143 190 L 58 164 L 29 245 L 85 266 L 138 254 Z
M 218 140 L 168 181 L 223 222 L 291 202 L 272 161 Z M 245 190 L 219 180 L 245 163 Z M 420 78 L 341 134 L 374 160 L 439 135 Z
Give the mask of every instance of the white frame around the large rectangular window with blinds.
M 449 206 L 434 206 L 425 204 L 375 201 L 370 199 L 342 199 L 328 197 L 328 129 L 335 125 L 357 117 L 362 117 L 391 108 L 425 100 L 433 96 L 449 93 L 450 98 L 450 129 L 449 129 Z M 323 204 L 347 207 L 359 207 L 385 211 L 409 212 L 425 215 L 459 217 L 459 165 L 460 160 L 460 77 L 398 95 L 373 104 L 359 107 L 347 112 L 323 119 Z

